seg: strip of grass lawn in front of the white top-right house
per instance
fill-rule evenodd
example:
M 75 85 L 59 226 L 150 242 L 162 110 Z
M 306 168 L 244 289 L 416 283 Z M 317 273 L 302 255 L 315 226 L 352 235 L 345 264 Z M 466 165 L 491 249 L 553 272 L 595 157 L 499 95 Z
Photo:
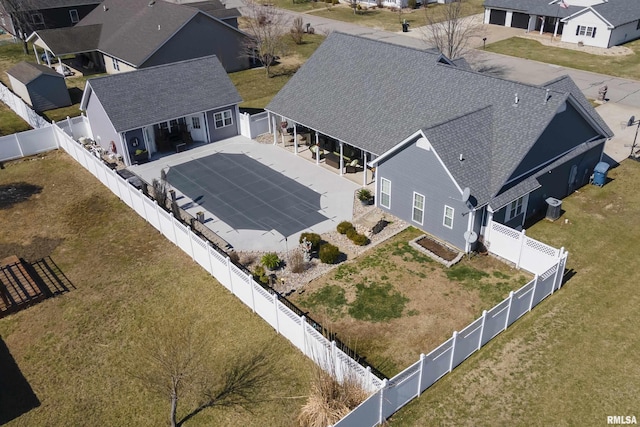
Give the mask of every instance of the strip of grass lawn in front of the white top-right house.
M 640 80 L 640 40 L 624 44 L 635 54 L 626 56 L 592 55 L 571 49 L 545 46 L 536 40 L 512 37 L 487 45 L 490 52 L 534 61 L 592 71 L 610 76 Z

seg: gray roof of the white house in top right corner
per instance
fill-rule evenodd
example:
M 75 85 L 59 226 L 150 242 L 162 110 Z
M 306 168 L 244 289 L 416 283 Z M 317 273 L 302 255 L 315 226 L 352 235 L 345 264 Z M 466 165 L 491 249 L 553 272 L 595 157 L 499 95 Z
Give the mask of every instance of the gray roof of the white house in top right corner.
M 569 15 L 588 9 L 585 6 L 574 6 L 571 0 L 565 0 L 569 8 L 564 9 L 557 3 L 549 4 L 551 0 L 485 0 L 485 8 L 515 10 L 532 15 L 558 16 L 566 18 Z M 614 26 L 640 19 L 640 5 L 638 0 L 608 0 L 591 6 L 604 19 Z

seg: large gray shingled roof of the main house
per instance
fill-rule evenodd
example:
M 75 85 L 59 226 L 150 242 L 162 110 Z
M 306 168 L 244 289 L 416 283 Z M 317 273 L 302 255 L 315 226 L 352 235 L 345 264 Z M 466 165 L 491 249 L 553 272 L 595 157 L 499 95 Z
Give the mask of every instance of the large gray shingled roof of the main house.
M 458 184 L 484 204 L 498 194 L 570 91 L 550 86 L 545 102 L 546 87 L 437 59 L 430 52 L 332 33 L 266 109 L 377 155 L 422 130 Z

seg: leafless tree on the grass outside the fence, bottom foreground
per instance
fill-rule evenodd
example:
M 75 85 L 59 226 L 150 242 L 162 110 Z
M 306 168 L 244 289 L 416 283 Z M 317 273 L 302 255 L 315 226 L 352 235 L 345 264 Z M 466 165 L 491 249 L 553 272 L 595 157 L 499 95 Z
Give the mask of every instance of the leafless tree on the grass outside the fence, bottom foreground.
M 178 326 L 181 323 L 189 326 Z M 204 356 L 215 347 L 212 343 L 205 348 L 196 325 L 178 321 L 158 327 L 134 355 L 131 375 L 169 401 L 171 427 L 183 425 L 207 408 L 233 406 L 251 412 L 268 395 L 266 389 L 273 380 L 268 369 L 271 347 L 247 349 L 226 365 L 212 366 Z M 193 409 L 178 419 L 182 401 L 191 402 Z

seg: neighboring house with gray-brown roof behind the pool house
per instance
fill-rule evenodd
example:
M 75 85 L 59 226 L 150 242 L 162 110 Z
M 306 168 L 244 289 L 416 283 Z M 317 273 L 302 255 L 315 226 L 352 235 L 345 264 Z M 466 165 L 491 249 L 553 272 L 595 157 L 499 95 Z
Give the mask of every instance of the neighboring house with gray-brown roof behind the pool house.
M 207 11 L 216 9 L 218 18 Z M 36 31 L 29 40 L 56 56 L 76 55 L 74 68 L 109 74 L 216 55 L 227 72 L 248 68 L 247 35 L 238 12 L 215 0 L 182 5 L 163 0 L 105 0 L 75 27 Z M 228 16 L 227 16 L 228 15 Z

